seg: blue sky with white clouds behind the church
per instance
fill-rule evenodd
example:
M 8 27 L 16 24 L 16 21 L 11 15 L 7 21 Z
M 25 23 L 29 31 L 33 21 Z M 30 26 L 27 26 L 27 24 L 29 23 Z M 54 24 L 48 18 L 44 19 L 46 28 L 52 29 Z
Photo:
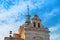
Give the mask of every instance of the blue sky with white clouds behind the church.
M 0 0 L 0 40 L 17 33 L 25 22 L 27 5 L 31 18 L 37 14 L 44 27 L 48 27 L 50 40 L 60 40 L 60 0 Z

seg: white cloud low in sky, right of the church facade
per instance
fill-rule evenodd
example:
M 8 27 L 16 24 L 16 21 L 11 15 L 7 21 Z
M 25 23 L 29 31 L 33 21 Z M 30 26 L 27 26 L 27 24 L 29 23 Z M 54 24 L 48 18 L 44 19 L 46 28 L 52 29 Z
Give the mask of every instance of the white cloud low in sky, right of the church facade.
M 59 40 L 60 39 L 60 32 L 59 32 L 60 25 L 59 24 L 50 27 L 49 30 L 50 30 L 50 40 Z

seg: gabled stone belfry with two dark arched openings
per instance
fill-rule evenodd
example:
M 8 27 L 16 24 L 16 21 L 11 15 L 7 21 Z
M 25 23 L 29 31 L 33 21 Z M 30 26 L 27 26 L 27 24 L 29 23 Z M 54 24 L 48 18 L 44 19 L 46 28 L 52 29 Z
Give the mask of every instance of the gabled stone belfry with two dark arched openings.
M 31 20 L 32 26 L 34 28 L 41 28 L 41 19 L 39 19 L 38 15 L 35 14 L 34 17 Z

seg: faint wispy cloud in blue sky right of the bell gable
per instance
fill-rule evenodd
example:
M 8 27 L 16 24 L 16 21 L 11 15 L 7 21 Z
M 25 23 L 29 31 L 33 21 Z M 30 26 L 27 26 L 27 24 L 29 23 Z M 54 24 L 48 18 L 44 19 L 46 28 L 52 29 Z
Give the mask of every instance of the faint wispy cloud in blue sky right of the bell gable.
M 55 17 L 57 15 L 60 15 L 60 10 L 59 8 L 54 8 L 53 10 L 51 10 L 51 12 L 46 12 L 45 14 L 43 14 L 43 23 L 47 22 L 48 20 L 50 20 L 52 17 Z

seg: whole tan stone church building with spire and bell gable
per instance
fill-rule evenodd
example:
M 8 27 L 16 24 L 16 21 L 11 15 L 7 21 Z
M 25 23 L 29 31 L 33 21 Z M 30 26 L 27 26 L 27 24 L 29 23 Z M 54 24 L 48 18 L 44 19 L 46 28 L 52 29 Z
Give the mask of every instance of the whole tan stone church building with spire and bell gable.
M 50 40 L 49 29 L 42 25 L 41 19 L 37 14 L 30 19 L 29 8 L 26 21 L 20 26 L 18 32 L 18 34 L 14 33 L 13 36 L 5 37 L 4 40 Z M 11 33 L 12 31 L 10 31 Z

